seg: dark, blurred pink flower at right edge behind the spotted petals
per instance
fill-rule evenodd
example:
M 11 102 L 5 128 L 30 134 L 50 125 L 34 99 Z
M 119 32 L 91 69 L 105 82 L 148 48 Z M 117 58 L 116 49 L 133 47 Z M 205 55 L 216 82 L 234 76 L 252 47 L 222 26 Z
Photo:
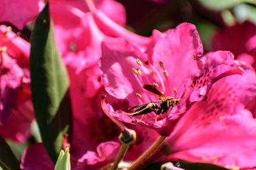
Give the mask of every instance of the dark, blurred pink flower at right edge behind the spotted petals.
M 241 34 L 243 32 L 243 34 Z M 236 35 L 236 36 L 234 36 Z M 224 27 L 212 39 L 214 50 L 230 50 L 235 59 L 251 64 L 256 69 L 256 25 L 251 22 Z M 256 97 L 246 108 L 256 117 Z

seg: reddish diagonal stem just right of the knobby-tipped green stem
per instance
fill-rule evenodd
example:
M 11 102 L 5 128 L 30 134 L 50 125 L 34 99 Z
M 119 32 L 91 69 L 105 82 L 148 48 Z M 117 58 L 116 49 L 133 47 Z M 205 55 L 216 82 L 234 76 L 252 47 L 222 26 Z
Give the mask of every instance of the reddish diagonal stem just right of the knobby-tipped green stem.
M 136 162 L 134 162 L 134 164 L 132 164 L 131 167 L 129 167 L 128 170 L 133 170 L 133 169 L 137 169 L 138 166 L 140 166 L 140 164 L 142 164 L 149 156 L 151 153 L 154 152 L 154 150 L 156 150 L 156 148 L 158 148 L 158 146 L 161 145 L 161 143 L 163 143 L 164 139 L 166 138 L 166 136 L 160 136 L 156 142 L 150 146 L 150 148 L 148 148 L 148 150 L 143 153 L 143 155 L 141 155 L 141 157 L 136 160 Z

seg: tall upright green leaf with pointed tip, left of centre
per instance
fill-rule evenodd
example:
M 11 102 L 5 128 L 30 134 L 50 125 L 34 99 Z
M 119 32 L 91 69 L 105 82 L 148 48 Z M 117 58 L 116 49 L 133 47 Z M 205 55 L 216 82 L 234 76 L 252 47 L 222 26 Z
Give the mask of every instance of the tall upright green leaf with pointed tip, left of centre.
M 32 32 L 29 66 L 36 121 L 44 146 L 56 162 L 63 134 L 71 130 L 72 115 L 67 70 L 56 47 L 52 25 L 46 3 Z

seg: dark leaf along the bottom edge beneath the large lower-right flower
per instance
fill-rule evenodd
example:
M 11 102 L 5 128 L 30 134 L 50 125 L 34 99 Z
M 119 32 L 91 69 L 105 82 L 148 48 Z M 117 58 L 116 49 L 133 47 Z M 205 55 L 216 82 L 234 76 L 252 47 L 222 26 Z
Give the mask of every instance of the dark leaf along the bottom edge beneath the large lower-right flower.
M 177 161 L 171 161 L 173 165 L 177 164 Z M 146 167 L 144 170 L 153 170 L 153 169 L 161 169 L 161 166 L 166 162 L 157 162 L 151 164 L 150 166 Z M 201 162 L 186 162 L 186 161 L 179 161 L 180 168 L 186 170 L 198 170 L 198 169 L 207 169 L 207 170 L 228 170 L 225 167 L 216 166 L 214 164 L 207 164 Z

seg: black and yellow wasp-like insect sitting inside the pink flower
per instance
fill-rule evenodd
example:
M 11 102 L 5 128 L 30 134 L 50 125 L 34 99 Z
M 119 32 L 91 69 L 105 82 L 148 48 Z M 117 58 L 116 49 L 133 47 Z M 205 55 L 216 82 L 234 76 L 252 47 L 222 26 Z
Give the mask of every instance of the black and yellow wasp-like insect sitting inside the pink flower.
M 137 108 L 134 113 L 125 113 L 126 115 L 132 115 L 133 117 L 139 116 L 139 115 L 145 115 L 147 113 L 150 113 L 154 111 L 156 113 L 156 122 L 157 122 L 157 115 L 160 115 L 161 113 L 167 113 L 169 109 L 172 109 L 173 106 L 175 106 L 180 98 L 174 98 L 174 97 L 166 97 L 163 93 L 161 93 L 159 90 L 156 89 L 154 85 L 143 85 L 143 89 L 146 89 L 150 92 L 153 92 L 154 94 L 157 94 L 159 96 L 159 101 L 152 101 L 149 103 L 143 103 L 138 106 L 133 106 L 129 108 L 128 110 L 132 110 L 134 108 Z M 158 106 L 156 103 L 160 103 Z

